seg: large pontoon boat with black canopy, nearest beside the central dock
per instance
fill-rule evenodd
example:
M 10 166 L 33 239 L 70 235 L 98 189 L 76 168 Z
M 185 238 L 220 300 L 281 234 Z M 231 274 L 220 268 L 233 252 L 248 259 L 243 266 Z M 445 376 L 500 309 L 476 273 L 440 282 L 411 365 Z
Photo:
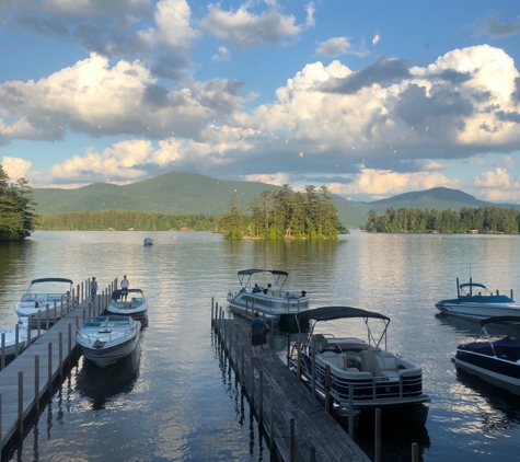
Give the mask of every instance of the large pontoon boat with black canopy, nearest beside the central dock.
M 373 416 L 373 411 L 380 408 L 382 413 L 397 412 L 403 418 L 426 423 L 430 399 L 423 392 L 421 368 L 386 350 L 390 317 L 353 307 L 323 307 L 297 316 L 299 321 L 305 319 L 310 330 L 300 349 L 300 361 L 297 348 L 290 355 L 294 370 L 300 363 L 303 380 L 311 383 L 314 376 L 315 389 L 324 395 L 328 367 L 330 395 L 339 408 L 360 412 L 360 418 L 363 414 Z M 356 320 L 362 320 L 365 326 Z M 372 326 L 374 320 L 380 324 L 377 328 Z M 333 332 L 366 330 L 368 342 L 323 331 L 322 325 L 331 325 L 331 321 L 335 321 Z

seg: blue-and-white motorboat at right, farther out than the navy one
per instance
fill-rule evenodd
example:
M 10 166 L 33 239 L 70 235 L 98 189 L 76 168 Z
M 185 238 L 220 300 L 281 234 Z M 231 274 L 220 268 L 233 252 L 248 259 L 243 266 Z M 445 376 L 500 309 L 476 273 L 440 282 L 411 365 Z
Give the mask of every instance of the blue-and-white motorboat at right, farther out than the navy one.
M 471 320 L 485 320 L 496 316 L 520 316 L 520 303 L 511 297 L 493 293 L 483 284 L 470 282 L 459 285 L 457 281 L 457 299 L 441 300 L 436 308 L 444 314 Z

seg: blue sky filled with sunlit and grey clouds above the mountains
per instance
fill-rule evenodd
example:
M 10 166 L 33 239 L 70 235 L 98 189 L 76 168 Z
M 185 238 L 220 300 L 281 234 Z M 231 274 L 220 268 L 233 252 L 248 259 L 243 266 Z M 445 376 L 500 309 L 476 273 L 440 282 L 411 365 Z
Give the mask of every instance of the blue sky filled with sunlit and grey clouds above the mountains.
M 520 2 L 0 0 L 0 163 L 520 203 Z

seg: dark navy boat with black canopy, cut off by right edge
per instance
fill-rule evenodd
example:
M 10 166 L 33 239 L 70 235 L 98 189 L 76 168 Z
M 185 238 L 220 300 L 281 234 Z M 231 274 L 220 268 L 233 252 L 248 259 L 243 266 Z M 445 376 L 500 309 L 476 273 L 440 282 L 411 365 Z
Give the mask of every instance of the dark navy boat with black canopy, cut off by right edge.
M 490 334 L 490 324 L 508 325 L 511 335 Z M 474 342 L 459 345 L 452 353 L 455 367 L 485 381 L 520 394 L 520 315 L 495 316 L 481 321 L 481 332 Z M 488 328 L 486 328 L 488 327 Z

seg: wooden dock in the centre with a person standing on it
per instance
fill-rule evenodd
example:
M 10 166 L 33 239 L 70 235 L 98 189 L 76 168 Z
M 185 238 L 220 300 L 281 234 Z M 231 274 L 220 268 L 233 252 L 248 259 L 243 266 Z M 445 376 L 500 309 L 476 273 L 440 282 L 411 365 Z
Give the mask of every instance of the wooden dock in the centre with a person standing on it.
M 273 349 L 262 351 L 259 360 L 252 358 L 245 320 L 224 320 L 222 311 L 217 311 L 211 323 L 221 351 L 249 396 L 271 451 L 287 462 L 370 461 Z

